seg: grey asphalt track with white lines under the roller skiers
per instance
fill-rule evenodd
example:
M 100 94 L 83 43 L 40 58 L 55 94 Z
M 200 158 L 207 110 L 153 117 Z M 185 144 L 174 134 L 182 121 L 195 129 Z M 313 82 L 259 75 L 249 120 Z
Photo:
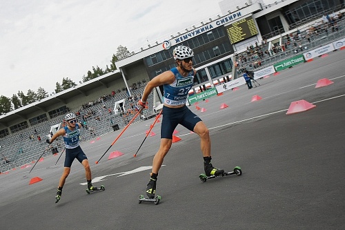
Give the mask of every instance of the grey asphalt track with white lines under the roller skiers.
M 334 84 L 315 88 L 322 78 Z M 46 157 L 30 174 L 30 167 L 1 174 L 1 229 L 345 229 L 345 50 L 258 82 L 201 102 L 204 113 L 190 106 L 210 128 L 213 165 L 241 166 L 241 176 L 201 182 L 199 137 L 177 126 L 181 141 L 159 171 L 162 200 L 138 204 L 159 146 L 158 123 L 157 135 L 133 157 L 149 119 L 132 124 L 99 164 L 120 131 L 81 143 L 92 178 L 103 180 L 94 185 L 106 191 L 88 195 L 75 161 L 55 204 L 63 170 L 63 157 L 55 166 L 58 156 Z M 262 99 L 250 102 L 253 95 Z M 286 115 L 301 99 L 316 107 Z M 228 108 L 220 109 L 223 103 Z M 124 155 L 108 160 L 114 151 Z M 34 177 L 43 180 L 29 185 Z

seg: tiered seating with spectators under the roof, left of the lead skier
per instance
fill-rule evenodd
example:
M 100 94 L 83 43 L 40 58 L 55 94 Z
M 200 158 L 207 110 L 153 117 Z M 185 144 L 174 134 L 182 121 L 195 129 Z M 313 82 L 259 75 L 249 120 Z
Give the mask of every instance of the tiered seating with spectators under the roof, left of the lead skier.
M 146 80 L 143 82 L 146 82 Z M 135 111 L 137 111 L 135 106 L 141 98 L 144 86 L 145 84 L 132 84 L 130 86 L 131 97 L 128 96 L 127 90 L 120 90 L 120 93 L 114 91 L 110 95 L 103 95 L 94 102 L 83 104 L 79 108 L 69 108 L 69 111 L 75 113 L 78 121 L 84 126 L 84 128 L 81 128 L 81 142 L 114 131 L 112 126 L 115 124 L 119 128 L 126 126 L 135 115 Z M 126 101 L 124 110 L 115 114 L 113 111 L 115 102 L 121 99 Z M 152 113 L 152 94 L 148 98 L 148 106 L 148 113 Z M 50 133 L 51 126 L 63 122 L 65 115 L 66 113 L 61 113 L 61 115 L 57 115 L 48 121 L 35 124 L 1 138 L 0 153 L 3 157 L 3 164 L 0 164 L 0 172 L 36 161 L 37 154 L 41 155 L 42 151 L 45 151 L 43 157 L 53 153 L 61 153 L 64 148 L 62 137 L 59 137 L 57 141 L 49 146 L 46 146 L 45 140 L 52 136 L 52 133 Z M 138 116 L 135 122 L 139 121 L 140 117 Z

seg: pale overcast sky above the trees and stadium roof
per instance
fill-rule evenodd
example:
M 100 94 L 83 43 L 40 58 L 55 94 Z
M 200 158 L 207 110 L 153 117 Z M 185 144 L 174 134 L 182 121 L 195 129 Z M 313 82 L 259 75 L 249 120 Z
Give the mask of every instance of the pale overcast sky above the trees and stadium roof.
M 141 46 L 220 14 L 221 0 L 0 0 L 0 95 L 48 93 L 92 66 L 110 66 L 118 46 Z

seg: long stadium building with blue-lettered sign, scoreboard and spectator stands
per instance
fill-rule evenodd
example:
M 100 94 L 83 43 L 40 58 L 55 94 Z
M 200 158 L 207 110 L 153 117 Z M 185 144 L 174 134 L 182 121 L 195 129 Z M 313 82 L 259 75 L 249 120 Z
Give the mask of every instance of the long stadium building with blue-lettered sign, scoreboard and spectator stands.
M 89 127 L 101 124 L 103 129 L 97 135 L 124 127 L 133 115 L 131 111 L 146 82 L 175 67 L 172 50 L 176 46 L 189 46 L 194 50 L 193 64 L 197 75 L 190 90 L 190 96 L 193 96 L 235 81 L 244 69 L 259 71 L 297 52 L 306 52 L 345 37 L 344 20 L 339 21 L 336 31 L 334 26 L 330 28 L 334 33 L 332 36 L 327 34 L 326 39 L 322 37 L 323 30 L 313 39 L 309 39 L 308 34 L 310 28 L 320 25 L 326 15 L 341 18 L 344 0 L 224 0 L 219 3 L 219 8 L 221 15 L 133 50 L 132 55 L 116 62 L 115 72 L 79 82 L 73 88 L 1 115 L 2 156 L 20 165 L 25 162 L 19 161 L 23 158 L 18 155 L 19 149 L 26 148 L 24 152 L 29 152 L 26 158 L 34 159 L 37 154 L 34 149 L 39 145 L 32 142 L 32 136 L 34 140 L 38 135 L 46 140 L 50 132 L 59 128 L 68 111 L 76 113 L 79 121 L 85 120 Z M 294 42 L 290 44 L 292 34 L 303 38 L 295 42 L 297 46 Z M 149 97 L 149 110 L 144 116 L 155 114 L 161 97 L 161 89 L 157 88 Z M 89 140 L 92 133 L 85 133 L 83 138 Z

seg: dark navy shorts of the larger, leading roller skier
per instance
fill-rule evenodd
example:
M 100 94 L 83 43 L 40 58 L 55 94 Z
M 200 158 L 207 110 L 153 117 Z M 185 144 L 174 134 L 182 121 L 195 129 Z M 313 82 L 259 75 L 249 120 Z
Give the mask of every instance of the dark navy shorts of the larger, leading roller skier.
M 172 133 L 176 126 L 181 124 L 190 131 L 194 130 L 200 117 L 195 115 L 187 106 L 181 108 L 169 108 L 163 106 L 163 119 L 161 120 L 161 138 L 172 139 Z

